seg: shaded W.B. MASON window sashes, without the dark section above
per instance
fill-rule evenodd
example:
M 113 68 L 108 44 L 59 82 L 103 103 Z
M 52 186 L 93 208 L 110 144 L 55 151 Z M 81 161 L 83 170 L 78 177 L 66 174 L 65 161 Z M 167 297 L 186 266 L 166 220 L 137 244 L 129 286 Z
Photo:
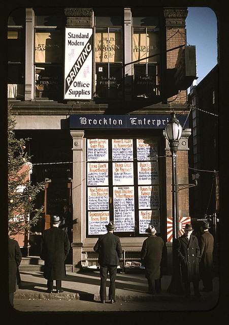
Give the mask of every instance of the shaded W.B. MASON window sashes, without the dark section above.
M 95 32 L 95 97 L 122 96 L 122 31 L 121 28 L 96 28 Z

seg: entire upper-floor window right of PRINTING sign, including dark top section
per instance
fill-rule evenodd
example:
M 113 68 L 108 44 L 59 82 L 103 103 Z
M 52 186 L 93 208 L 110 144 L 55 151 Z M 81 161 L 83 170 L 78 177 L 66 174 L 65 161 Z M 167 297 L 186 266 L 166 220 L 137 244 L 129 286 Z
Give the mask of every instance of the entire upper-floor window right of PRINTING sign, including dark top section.
M 95 97 L 122 96 L 122 12 L 95 9 Z

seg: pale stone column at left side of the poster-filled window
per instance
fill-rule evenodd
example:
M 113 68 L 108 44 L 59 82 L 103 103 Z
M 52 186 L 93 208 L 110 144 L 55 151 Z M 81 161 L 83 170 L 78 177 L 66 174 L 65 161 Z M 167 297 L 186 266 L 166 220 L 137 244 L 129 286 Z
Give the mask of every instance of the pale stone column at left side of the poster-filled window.
M 73 272 L 81 269 L 83 230 L 85 214 L 85 155 L 84 131 L 70 131 L 73 138 Z

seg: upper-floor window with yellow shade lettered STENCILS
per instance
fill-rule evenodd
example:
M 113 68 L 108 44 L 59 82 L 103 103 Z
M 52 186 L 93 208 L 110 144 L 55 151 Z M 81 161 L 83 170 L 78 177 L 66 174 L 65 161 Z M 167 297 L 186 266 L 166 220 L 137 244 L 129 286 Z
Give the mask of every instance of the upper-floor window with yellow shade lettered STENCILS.
M 159 89 L 159 28 L 133 29 L 134 97 L 152 99 Z

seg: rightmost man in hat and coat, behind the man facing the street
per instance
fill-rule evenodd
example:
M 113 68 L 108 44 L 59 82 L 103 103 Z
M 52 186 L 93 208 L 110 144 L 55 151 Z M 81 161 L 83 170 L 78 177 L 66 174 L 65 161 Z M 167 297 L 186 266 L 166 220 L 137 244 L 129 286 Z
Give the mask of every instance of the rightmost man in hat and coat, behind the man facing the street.
M 214 237 L 209 233 L 209 222 L 202 221 L 201 224 L 201 236 L 199 238 L 200 246 L 200 277 L 203 282 L 203 291 L 211 292 L 213 290 L 212 279 L 213 279 L 213 248 L 214 248 Z

